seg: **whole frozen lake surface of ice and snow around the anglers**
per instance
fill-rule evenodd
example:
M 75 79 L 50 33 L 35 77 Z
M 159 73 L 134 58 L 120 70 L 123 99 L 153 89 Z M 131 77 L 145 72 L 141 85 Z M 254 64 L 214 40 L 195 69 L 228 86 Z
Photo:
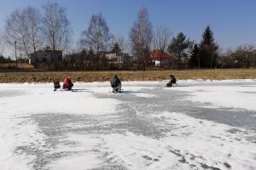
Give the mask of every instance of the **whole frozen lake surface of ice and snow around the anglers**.
M 0 167 L 256 169 L 256 81 L 0 84 Z

